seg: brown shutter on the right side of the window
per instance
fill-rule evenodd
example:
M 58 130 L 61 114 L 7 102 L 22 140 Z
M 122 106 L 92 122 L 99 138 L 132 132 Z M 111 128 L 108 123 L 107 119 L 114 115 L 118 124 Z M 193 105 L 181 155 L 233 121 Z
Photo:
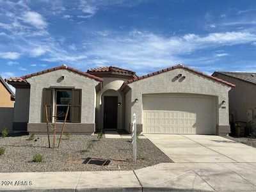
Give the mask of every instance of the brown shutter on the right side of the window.
M 81 123 L 81 101 L 82 101 L 82 90 L 72 90 L 72 103 L 71 103 L 71 119 L 72 123 Z

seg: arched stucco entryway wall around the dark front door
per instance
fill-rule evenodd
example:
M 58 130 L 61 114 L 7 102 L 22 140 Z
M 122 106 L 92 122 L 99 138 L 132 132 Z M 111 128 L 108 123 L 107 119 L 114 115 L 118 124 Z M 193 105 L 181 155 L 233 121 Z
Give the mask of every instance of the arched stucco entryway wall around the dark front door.
M 97 93 L 96 104 L 96 129 L 103 129 L 104 116 L 104 96 L 117 96 L 118 102 L 121 103 L 117 109 L 117 129 L 124 129 L 125 125 L 125 95 L 120 91 L 120 87 L 127 79 L 113 77 L 103 77 L 103 87 Z

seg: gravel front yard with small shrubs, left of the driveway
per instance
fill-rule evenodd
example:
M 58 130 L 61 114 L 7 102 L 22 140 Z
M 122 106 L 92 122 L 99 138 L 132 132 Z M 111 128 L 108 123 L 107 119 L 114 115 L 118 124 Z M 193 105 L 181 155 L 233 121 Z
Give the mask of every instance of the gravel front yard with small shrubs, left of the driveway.
M 0 138 L 0 147 L 6 152 L 0 156 L 0 172 L 76 172 L 102 171 L 105 166 L 84 164 L 86 158 L 109 159 L 110 165 L 119 165 L 121 170 L 136 170 L 158 163 L 172 163 L 151 141 L 139 139 L 136 163 L 132 162 L 131 139 L 97 140 L 97 136 L 74 135 L 61 140 L 60 148 L 48 148 L 45 135 L 36 135 L 36 141 L 29 136 Z M 38 139 L 39 138 L 39 139 Z M 57 136 L 56 147 L 59 136 Z M 52 144 L 52 136 L 51 136 Z M 42 163 L 34 163 L 33 156 L 44 156 Z

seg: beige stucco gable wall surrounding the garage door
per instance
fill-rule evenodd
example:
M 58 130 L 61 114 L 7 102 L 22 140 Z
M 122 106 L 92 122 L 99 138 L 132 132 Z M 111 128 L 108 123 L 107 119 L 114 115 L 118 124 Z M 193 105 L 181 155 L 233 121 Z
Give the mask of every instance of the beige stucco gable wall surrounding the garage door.
M 182 74 L 186 79 L 175 80 L 175 76 Z M 127 104 L 131 105 L 131 113 L 127 114 L 130 123 L 132 114 L 136 113 L 137 123 L 142 124 L 142 95 L 148 93 L 192 93 L 211 95 L 216 97 L 216 124 L 229 125 L 228 122 L 228 91 L 230 87 L 218 83 L 212 79 L 200 76 L 184 68 L 177 68 L 156 76 L 148 77 L 140 81 L 128 84 L 131 87 L 131 97 L 126 97 Z M 129 99 L 129 100 L 128 100 Z M 134 100 L 138 99 L 137 103 Z M 226 108 L 221 108 L 221 102 L 225 100 Z M 128 125 L 128 122 L 125 124 Z M 131 127 L 125 127 L 131 129 Z

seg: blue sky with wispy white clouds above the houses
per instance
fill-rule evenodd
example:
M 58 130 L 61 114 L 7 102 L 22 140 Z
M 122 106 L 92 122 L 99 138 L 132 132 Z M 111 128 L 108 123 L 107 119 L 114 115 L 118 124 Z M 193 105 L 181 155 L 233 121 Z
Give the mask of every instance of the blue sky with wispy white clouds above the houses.
M 255 72 L 255 53 L 255 0 L 0 0 L 4 78 L 62 64 Z

